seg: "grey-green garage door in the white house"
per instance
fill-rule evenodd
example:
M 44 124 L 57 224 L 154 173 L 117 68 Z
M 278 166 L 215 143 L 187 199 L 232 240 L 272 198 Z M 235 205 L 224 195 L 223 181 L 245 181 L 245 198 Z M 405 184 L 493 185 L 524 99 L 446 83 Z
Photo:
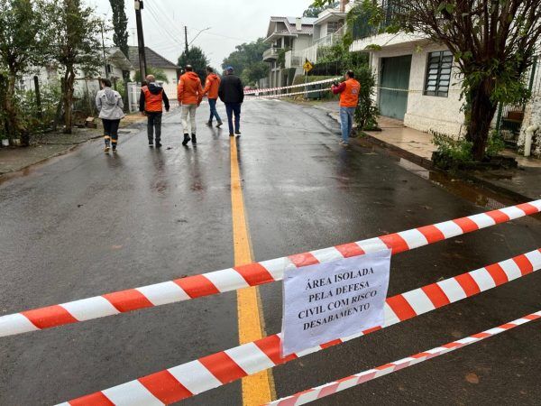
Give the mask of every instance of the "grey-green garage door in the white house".
M 382 58 L 380 81 L 380 114 L 404 119 L 408 108 L 411 55 Z

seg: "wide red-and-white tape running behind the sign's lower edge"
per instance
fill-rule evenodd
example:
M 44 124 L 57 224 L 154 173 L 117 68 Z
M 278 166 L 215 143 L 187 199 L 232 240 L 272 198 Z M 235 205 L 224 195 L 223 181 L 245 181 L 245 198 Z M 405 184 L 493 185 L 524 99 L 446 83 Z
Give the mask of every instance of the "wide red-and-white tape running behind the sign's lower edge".
M 362 337 L 381 328 L 388 328 L 409 318 L 415 318 L 450 303 L 469 298 L 481 291 L 488 291 L 539 269 L 541 269 L 541 248 L 388 298 L 385 304 L 384 325 L 351 337 L 336 339 L 282 358 L 280 356 L 281 335 L 275 334 L 105 389 L 105 391 L 83 396 L 63 405 L 95 405 L 102 404 L 99 403 L 102 401 L 103 404 L 106 402 L 106 404 L 127 406 L 170 404 L 181 401 L 329 346 Z

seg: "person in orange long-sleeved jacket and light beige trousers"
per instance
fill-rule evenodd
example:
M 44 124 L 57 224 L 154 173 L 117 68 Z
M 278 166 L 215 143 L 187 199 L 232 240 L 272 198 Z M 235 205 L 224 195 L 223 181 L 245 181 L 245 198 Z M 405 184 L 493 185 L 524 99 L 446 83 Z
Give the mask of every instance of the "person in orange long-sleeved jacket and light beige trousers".
M 196 111 L 203 99 L 203 87 L 201 79 L 194 72 L 191 65 L 185 68 L 185 74 L 180 77 L 179 87 L 177 88 L 177 98 L 179 104 L 182 105 L 182 128 L 184 129 L 184 141 L 182 145 L 186 146 L 191 140 L 192 143 L 197 143 L 196 137 Z M 188 115 L 191 127 L 191 138 L 188 131 Z

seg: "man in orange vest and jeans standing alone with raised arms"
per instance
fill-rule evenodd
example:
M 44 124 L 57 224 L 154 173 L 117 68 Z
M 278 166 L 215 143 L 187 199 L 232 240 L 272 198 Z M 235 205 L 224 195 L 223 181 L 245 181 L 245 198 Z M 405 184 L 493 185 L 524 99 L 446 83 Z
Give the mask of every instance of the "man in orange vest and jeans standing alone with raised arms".
M 347 146 L 349 136 L 352 134 L 353 115 L 359 104 L 361 84 L 355 80 L 353 70 L 345 73 L 345 81 L 332 86 L 335 95 L 340 94 L 340 125 L 342 126 L 342 141 L 340 145 Z

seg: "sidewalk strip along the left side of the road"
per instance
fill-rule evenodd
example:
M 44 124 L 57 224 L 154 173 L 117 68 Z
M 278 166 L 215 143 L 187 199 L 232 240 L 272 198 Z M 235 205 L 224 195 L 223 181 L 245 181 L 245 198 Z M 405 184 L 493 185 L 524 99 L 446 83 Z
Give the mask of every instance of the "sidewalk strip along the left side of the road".
M 122 134 L 123 128 L 142 120 L 144 117 L 139 115 L 126 115 L 121 122 L 119 134 Z M 99 121 L 96 119 L 96 123 L 99 124 L 96 129 L 74 128 L 73 134 L 60 132 L 41 134 L 32 137 L 32 145 L 29 147 L 0 148 L 0 176 L 5 173 L 21 171 L 36 163 L 70 152 L 82 143 L 101 138 L 103 130 Z

